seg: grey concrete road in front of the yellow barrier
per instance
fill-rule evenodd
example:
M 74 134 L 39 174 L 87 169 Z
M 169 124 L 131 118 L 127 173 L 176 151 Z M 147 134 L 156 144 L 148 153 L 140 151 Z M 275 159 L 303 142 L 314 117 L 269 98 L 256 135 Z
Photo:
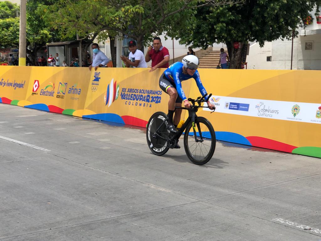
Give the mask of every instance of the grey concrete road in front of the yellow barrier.
M 144 129 L 0 116 L 0 240 L 321 240 L 320 159 L 218 142 L 197 166 Z

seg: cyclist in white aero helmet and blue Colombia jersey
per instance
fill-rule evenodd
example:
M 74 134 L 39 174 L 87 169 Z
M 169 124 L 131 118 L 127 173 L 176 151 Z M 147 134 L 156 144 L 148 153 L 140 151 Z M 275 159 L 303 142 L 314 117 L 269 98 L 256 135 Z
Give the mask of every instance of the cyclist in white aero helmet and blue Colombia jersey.
M 181 81 L 194 78 L 196 85 L 202 94 L 206 94 L 206 90 L 204 86 L 202 85 L 200 75 L 197 71 L 197 68 L 199 66 L 199 59 L 195 55 L 187 55 L 182 59 L 182 62 L 176 62 L 169 66 L 164 73 L 160 76 L 159 85 L 160 88 L 169 94 L 169 102 L 168 102 L 168 125 L 167 129 L 171 133 L 177 133 L 176 127 L 180 121 L 181 109 L 176 109 L 175 106 L 182 106 L 182 102 L 184 101 L 184 106 L 186 108 L 191 107 L 191 103 L 187 100 L 187 97 L 185 96 L 185 93 L 183 91 Z M 207 98 L 208 95 L 205 97 Z M 211 110 L 215 109 L 215 106 L 210 103 L 210 101 L 207 102 L 208 107 Z M 174 121 L 173 121 L 173 115 Z M 177 145 L 178 146 L 178 145 Z M 176 147 L 176 148 L 179 148 Z

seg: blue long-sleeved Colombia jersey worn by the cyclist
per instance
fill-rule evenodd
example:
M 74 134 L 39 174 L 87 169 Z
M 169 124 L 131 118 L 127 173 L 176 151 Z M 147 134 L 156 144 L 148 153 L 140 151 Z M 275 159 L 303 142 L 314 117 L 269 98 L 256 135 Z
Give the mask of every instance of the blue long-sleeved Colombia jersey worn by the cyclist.
M 193 76 L 190 76 L 189 74 L 183 74 L 183 63 L 182 62 L 176 62 L 176 63 L 172 64 L 171 66 L 169 66 L 164 71 L 164 75 L 167 80 L 169 80 L 170 82 L 172 82 L 176 86 L 178 96 L 180 98 L 182 98 L 183 101 L 187 100 L 187 98 L 186 98 L 185 93 L 183 91 L 181 81 L 184 81 L 184 80 L 187 80 L 190 78 L 194 78 L 196 85 L 197 85 L 200 93 L 202 94 L 202 96 L 207 93 L 204 86 L 202 85 L 202 82 L 200 79 L 200 74 L 198 73 L 198 71 L 196 70 Z M 206 98 L 207 97 L 208 97 L 208 95 L 206 95 Z

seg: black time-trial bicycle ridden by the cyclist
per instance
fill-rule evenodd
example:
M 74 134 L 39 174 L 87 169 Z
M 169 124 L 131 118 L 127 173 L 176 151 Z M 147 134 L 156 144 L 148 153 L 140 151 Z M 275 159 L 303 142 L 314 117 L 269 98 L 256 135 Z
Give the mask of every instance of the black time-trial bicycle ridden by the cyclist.
M 212 158 L 216 144 L 213 126 L 206 118 L 196 115 L 199 108 L 208 108 L 207 106 L 201 106 L 201 103 L 207 102 L 212 96 L 210 94 L 205 100 L 206 95 L 197 97 L 196 100 L 188 98 L 188 101 L 192 103 L 190 109 L 176 107 L 188 111 L 186 122 L 178 129 L 176 134 L 170 133 L 166 129 L 168 117 L 164 112 L 155 112 L 151 116 L 147 123 L 146 138 L 148 147 L 153 154 L 164 155 L 169 148 L 176 146 L 178 139 L 184 133 L 184 148 L 191 162 L 196 165 L 204 165 Z

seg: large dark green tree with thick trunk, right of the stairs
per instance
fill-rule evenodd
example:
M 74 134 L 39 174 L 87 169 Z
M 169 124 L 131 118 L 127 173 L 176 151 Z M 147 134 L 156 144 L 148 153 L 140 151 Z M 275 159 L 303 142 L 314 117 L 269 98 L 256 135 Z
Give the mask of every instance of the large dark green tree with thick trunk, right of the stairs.
M 241 68 L 243 52 L 248 41 L 261 47 L 265 41 L 292 38 L 304 28 L 304 20 L 319 0 L 246 0 L 242 5 L 203 6 L 196 10 L 186 28 L 171 31 L 180 43 L 206 49 L 213 43 L 225 43 L 230 57 L 230 68 Z M 233 47 L 240 42 L 240 48 Z

